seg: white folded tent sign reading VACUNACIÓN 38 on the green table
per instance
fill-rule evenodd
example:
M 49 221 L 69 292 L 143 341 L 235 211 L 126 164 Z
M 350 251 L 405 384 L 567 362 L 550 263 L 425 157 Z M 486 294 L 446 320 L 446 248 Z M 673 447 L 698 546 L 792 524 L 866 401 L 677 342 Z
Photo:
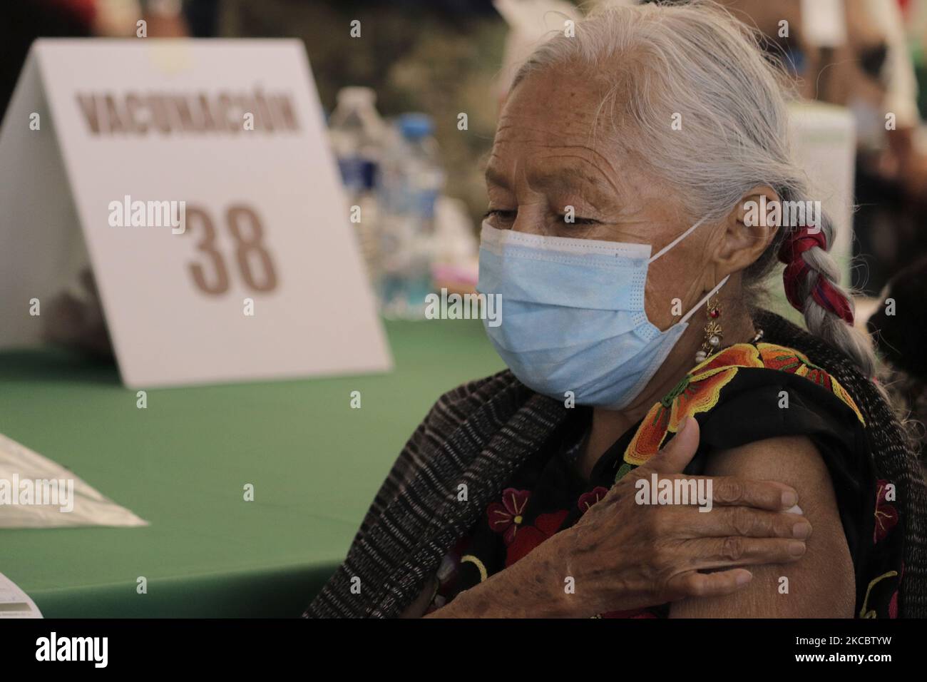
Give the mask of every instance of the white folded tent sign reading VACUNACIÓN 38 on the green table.
M 390 367 L 298 41 L 36 41 L 0 205 L 0 345 L 83 242 L 128 386 Z

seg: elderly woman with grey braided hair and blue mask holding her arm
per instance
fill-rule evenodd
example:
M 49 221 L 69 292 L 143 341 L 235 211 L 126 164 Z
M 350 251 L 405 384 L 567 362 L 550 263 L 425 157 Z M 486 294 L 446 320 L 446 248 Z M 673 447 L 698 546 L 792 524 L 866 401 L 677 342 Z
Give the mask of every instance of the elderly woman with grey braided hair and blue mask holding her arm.
M 813 199 L 787 127 L 714 6 L 608 6 L 537 49 L 486 173 L 510 370 L 438 400 L 306 615 L 924 614 L 923 485 L 832 227 L 751 216 Z M 777 256 L 810 333 L 756 307 Z M 649 504 L 661 479 L 710 510 Z

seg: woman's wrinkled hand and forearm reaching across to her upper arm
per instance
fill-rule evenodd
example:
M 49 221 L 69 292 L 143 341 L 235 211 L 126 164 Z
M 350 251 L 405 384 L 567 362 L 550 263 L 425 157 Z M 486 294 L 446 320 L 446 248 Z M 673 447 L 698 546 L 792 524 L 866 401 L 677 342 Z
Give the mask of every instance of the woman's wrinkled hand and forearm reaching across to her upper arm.
M 429 615 L 590 617 L 727 595 L 752 578 L 733 567 L 801 558 L 811 525 L 785 511 L 798 501 L 787 485 L 711 478 L 713 508 L 707 512 L 635 502 L 636 483 L 654 473 L 661 480 L 707 481 L 680 475 L 698 442 L 698 422 L 687 418 L 664 450 L 616 483 L 575 526 Z

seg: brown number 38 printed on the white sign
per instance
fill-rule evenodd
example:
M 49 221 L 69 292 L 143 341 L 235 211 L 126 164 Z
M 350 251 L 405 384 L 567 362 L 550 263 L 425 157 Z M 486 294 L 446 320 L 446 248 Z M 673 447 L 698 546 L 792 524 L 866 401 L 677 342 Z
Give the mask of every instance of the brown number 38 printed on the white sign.
M 225 212 L 225 223 L 235 240 L 235 262 L 248 288 L 262 292 L 276 289 L 277 274 L 273 269 L 271 254 L 262 243 L 264 228 L 260 225 L 258 214 L 248 206 L 230 206 Z M 194 232 L 201 236 L 197 250 L 202 251 L 206 257 L 206 264 L 190 264 L 190 274 L 197 289 L 211 296 L 228 291 L 228 268 L 225 266 L 222 252 L 216 248 L 216 229 L 209 213 L 188 206 L 185 232 Z M 255 262 L 257 266 L 252 267 Z M 206 275 L 208 269 L 212 271 L 210 277 Z

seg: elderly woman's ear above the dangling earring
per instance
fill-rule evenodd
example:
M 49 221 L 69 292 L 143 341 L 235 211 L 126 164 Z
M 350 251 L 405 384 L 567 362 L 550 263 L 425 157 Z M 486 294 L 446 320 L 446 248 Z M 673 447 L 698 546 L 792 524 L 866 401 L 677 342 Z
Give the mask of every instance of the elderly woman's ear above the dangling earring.
M 772 187 L 761 185 L 743 194 L 724 220 L 714 254 L 718 281 L 756 262 L 779 229 L 781 205 Z

